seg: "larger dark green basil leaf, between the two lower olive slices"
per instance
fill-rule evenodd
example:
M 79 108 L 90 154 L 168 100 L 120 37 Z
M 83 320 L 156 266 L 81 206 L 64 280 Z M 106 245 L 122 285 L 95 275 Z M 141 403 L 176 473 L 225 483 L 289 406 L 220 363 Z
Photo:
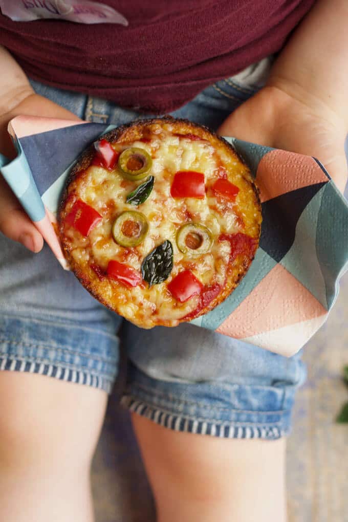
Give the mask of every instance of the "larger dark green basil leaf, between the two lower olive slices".
M 141 264 L 142 278 L 150 285 L 162 283 L 173 269 L 173 246 L 168 240 L 154 248 Z

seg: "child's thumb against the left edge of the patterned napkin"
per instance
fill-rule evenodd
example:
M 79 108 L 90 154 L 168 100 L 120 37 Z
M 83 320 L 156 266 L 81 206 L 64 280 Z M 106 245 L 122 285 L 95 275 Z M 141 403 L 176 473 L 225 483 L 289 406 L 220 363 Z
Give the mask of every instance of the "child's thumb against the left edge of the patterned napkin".
M 0 232 L 7 238 L 18 241 L 31 252 L 40 252 L 43 238 L 22 209 L 0 174 Z

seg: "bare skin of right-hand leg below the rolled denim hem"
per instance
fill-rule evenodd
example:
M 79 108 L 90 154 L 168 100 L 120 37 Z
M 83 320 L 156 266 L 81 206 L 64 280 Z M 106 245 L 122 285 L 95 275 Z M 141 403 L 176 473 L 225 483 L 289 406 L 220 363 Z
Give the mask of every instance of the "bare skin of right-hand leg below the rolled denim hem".
M 133 413 L 158 522 L 284 522 L 285 438 L 175 432 Z

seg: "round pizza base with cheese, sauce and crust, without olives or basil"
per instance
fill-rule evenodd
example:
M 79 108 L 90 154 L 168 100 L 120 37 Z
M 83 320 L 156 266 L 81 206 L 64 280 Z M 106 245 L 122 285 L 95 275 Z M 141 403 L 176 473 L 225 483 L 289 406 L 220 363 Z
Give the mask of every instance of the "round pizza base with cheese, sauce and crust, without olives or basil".
M 143 203 L 131 205 L 127 196 L 146 179 L 126 179 L 117 163 L 112 170 L 105 168 L 95 161 L 93 146 L 83 153 L 70 173 L 59 212 L 59 234 L 71 269 L 96 299 L 143 328 L 176 326 L 206 314 L 235 289 L 258 247 L 261 207 L 249 169 L 225 140 L 206 127 L 171 117 L 136 121 L 103 138 L 117 155 L 130 147 L 147 152 L 152 158 L 148 175 L 154 177 L 153 188 Z M 177 173 L 203 175 L 204 194 L 184 197 L 175 193 Z M 216 184 L 218 180 L 224 181 Z M 237 187 L 235 196 L 226 182 Z M 215 189 L 219 186 L 220 190 Z M 100 217 L 81 233 L 71 216 L 83 204 Z M 138 246 L 121 246 L 113 237 L 113 223 L 124 211 L 146 217 L 148 230 Z M 211 245 L 207 253 L 179 250 L 177 234 L 185 223 L 208 229 Z M 165 241 L 172 245 L 173 267 L 163 282 L 150 286 L 141 277 L 142 263 Z M 139 276 L 134 286 L 110 277 L 111 260 Z M 182 272 L 190 275 L 196 289 L 188 299 L 190 292 L 185 294 L 185 289 L 183 297 L 185 278 L 181 284 L 177 283 L 181 278 L 176 279 Z M 187 278 L 186 284 L 190 284 Z

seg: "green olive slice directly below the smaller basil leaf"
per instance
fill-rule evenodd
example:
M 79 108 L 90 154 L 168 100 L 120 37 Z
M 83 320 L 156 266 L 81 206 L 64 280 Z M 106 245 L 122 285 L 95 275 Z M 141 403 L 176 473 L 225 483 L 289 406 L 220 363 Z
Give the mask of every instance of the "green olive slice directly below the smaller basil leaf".
M 131 247 L 140 245 L 148 230 L 148 220 L 141 212 L 126 210 L 115 219 L 112 235 L 118 245 Z

